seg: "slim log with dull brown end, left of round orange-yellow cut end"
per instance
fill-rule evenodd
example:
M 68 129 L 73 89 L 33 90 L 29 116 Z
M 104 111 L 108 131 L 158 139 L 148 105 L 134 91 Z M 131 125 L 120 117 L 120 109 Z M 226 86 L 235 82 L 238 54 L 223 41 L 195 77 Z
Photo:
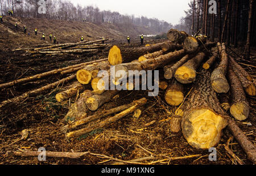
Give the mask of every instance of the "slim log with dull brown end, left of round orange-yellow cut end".
M 183 58 L 180 59 L 180 61 L 176 62 L 174 65 L 167 65 L 164 66 L 164 78 L 165 79 L 172 79 L 174 77 L 174 74 L 180 66 L 182 66 L 185 62 L 187 62 L 189 59 L 191 59 L 192 55 L 185 55 Z

